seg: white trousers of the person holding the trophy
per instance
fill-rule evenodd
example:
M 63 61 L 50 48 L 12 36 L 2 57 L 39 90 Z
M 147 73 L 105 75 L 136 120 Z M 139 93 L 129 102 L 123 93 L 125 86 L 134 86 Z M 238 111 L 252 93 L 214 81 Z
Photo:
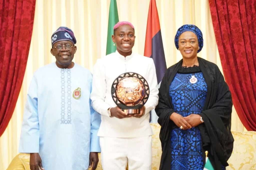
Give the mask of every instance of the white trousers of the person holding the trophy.
M 151 170 L 152 136 L 136 138 L 100 137 L 103 170 Z

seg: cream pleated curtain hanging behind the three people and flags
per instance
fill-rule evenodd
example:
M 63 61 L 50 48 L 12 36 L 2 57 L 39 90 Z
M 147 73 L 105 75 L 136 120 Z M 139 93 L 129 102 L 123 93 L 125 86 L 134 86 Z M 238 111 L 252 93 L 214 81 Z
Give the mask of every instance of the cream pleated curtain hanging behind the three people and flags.
M 119 21 L 130 21 L 134 25 L 133 52 L 141 55 L 144 53 L 149 3 L 150 0 L 117 0 Z M 177 29 L 183 24 L 195 24 L 204 37 L 204 47 L 198 56 L 216 63 L 222 71 L 208 0 L 156 0 L 156 3 L 167 67 L 182 58 L 174 45 Z M 96 60 L 106 53 L 109 4 L 110 0 L 37 0 L 22 89 L 12 119 L 0 138 L 1 170 L 6 169 L 18 154 L 23 110 L 33 73 L 55 61 L 50 53 L 52 33 L 60 26 L 72 29 L 77 39 L 74 62 L 92 71 Z M 231 130 L 244 131 L 234 108 Z

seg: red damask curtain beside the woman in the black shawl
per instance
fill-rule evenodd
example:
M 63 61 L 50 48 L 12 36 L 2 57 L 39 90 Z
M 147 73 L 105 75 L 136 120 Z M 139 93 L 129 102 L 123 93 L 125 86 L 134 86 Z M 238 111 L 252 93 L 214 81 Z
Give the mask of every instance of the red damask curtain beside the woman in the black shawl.
M 209 0 L 225 80 L 237 114 L 256 131 L 256 1 Z

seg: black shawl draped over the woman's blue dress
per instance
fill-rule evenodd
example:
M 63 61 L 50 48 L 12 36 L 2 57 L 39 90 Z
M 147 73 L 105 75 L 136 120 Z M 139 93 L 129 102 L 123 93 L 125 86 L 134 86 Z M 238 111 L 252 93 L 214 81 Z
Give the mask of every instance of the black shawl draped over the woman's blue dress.
M 161 125 L 159 138 L 162 144 L 162 156 L 159 170 L 171 168 L 170 134 L 177 126 L 169 118 L 174 112 L 169 86 L 182 62 L 183 60 L 180 60 L 167 69 L 159 88 L 159 101 L 155 108 L 159 116 L 158 123 Z M 205 163 L 207 150 L 214 169 L 219 170 L 222 165 L 228 166 L 227 161 L 233 150 L 234 139 L 230 131 L 233 103 L 228 85 L 218 66 L 199 57 L 198 62 L 208 86 L 205 105 L 200 113 L 204 123 L 198 126 L 202 139 L 203 160 Z

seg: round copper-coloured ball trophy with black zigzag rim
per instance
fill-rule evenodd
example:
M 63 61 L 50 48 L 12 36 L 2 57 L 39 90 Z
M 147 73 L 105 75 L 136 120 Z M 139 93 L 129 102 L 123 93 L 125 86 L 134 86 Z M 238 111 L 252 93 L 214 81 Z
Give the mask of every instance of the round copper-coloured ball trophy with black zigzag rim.
M 140 74 L 126 72 L 118 76 L 112 86 L 111 95 L 115 104 L 128 114 L 139 114 L 149 97 L 149 86 Z

